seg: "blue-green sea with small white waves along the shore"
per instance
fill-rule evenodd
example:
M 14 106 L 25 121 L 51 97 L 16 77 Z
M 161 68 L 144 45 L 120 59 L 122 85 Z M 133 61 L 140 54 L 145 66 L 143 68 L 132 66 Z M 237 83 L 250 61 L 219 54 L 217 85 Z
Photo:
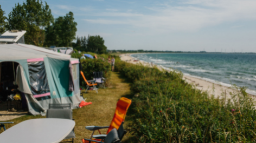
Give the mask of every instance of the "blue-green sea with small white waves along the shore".
M 132 57 L 224 86 L 246 86 L 256 95 L 256 54 L 147 53 Z

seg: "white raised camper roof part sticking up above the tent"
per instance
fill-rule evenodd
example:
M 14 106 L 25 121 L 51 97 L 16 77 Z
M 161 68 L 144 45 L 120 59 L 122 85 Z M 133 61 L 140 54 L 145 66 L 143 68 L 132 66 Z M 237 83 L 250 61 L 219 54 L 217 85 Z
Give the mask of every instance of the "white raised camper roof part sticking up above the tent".
M 24 34 L 26 31 L 9 30 L 0 36 L 0 43 L 23 43 L 25 44 Z

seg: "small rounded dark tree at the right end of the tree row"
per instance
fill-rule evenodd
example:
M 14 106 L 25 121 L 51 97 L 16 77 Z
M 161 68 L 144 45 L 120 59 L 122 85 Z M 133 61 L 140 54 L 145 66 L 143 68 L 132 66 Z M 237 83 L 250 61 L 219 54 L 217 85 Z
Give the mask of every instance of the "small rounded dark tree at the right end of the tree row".
M 98 54 L 107 53 L 104 39 L 100 36 L 89 36 L 87 38 L 87 50 Z

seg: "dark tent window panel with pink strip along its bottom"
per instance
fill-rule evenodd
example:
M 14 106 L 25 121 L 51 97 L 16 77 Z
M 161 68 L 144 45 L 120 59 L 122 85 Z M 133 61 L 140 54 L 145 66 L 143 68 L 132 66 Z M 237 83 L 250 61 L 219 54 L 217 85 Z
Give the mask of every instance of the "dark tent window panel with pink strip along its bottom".
M 29 62 L 29 80 L 31 92 L 37 100 L 50 99 L 50 88 L 44 62 Z

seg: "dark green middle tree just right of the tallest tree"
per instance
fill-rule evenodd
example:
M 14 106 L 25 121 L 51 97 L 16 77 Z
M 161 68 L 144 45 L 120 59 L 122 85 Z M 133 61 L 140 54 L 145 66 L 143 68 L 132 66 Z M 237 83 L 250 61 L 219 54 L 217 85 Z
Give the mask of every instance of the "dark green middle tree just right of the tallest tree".
M 69 12 L 66 16 L 55 19 L 53 25 L 46 28 L 46 45 L 54 44 L 55 46 L 72 46 L 75 39 L 76 22 L 74 22 L 73 12 Z

